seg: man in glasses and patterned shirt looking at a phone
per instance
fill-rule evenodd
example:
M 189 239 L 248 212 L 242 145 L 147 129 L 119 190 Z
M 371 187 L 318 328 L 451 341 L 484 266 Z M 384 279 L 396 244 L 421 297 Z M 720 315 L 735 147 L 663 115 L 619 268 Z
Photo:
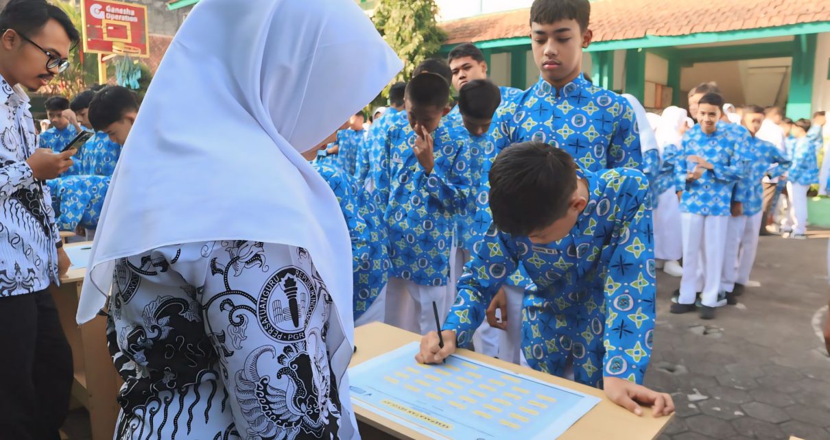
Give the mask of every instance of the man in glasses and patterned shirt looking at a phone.
M 78 31 L 45 0 L 0 12 L 0 440 L 56 439 L 69 405 L 72 355 L 50 286 L 69 268 L 45 181 L 76 150 L 37 147 L 24 89 L 69 66 Z

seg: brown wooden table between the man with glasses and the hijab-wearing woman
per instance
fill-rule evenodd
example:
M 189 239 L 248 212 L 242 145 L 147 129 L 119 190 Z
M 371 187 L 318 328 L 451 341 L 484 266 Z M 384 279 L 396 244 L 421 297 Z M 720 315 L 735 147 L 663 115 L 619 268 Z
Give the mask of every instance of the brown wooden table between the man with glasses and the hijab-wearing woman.
M 89 246 L 90 242 L 66 244 L 66 248 Z M 61 277 L 61 287 L 52 291 L 61 326 L 72 349 L 75 381 L 72 397 L 90 412 L 92 440 L 110 440 L 120 407 L 115 401 L 121 379 L 106 346 L 106 318 L 95 317 L 83 326 L 76 323 L 78 300 L 86 268 L 71 269 Z

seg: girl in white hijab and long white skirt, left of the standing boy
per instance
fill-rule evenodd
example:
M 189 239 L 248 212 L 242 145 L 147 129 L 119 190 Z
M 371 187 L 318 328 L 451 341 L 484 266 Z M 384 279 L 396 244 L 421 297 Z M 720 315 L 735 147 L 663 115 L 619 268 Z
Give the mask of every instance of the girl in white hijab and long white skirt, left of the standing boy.
M 663 272 L 681 277 L 683 257 L 681 240 L 680 203 L 677 201 L 674 182 L 674 159 L 681 145 L 683 133 L 688 128 L 686 110 L 668 107 L 657 123 L 657 149 L 660 151 L 661 170 L 654 187 L 657 206 L 654 209 L 654 257 L 663 260 Z

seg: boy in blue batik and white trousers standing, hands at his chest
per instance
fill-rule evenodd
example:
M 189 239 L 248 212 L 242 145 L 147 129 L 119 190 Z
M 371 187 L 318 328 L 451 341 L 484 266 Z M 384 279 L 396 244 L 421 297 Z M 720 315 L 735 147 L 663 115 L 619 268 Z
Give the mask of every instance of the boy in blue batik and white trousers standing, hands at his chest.
M 722 305 L 719 293 L 726 231 L 735 207 L 740 210 L 740 204 L 732 203 L 732 194 L 745 168 L 734 132 L 719 124 L 723 104 L 720 94 L 701 98 L 698 125 L 686 132 L 675 167 L 675 187 L 681 196 L 683 277 L 680 297 L 671 304 L 671 312 L 695 311 L 702 256 L 702 319 L 714 318 L 715 307 Z

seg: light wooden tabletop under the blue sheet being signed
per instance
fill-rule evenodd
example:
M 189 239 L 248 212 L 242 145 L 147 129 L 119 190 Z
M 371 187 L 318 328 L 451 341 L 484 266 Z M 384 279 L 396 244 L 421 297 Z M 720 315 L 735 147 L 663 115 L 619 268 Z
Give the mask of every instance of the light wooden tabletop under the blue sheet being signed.
M 366 360 L 370 360 L 378 355 L 387 353 L 405 346 L 412 341 L 420 341 L 421 336 L 409 331 L 403 331 L 393 326 L 388 326 L 379 322 L 373 322 L 365 326 L 359 326 L 354 329 L 354 345 L 358 347 L 354 353 L 352 362 L 349 366 L 359 365 Z M 531 370 L 519 365 L 510 364 L 504 360 L 498 360 L 486 355 L 481 355 L 467 350 L 459 350 L 458 354 L 471 357 L 475 360 L 480 360 L 490 365 L 503 368 L 505 370 L 515 371 L 523 375 L 529 375 L 538 380 L 544 380 L 551 384 L 557 384 L 569 389 L 575 389 L 585 394 L 592 394 L 601 398 L 602 401 L 593 407 L 583 418 L 580 418 L 562 437 L 563 440 L 588 440 L 588 439 L 610 439 L 614 440 L 648 440 L 657 438 L 666 425 L 674 417 L 672 414 L 669 417 L 652 418 L 650 411 L 646 410 L 646 415 L 637 417 L 633 413 L 629 413 L 626 409 L 613 404 L 610 400 L 605 398 L 602 390 L 594 389 L 583 384 L 577 384 L 570 380 L 564 380 L 556 376 L 547 375 L 536 370 Z M 413 356 L 415 354 L 413 353 Z M 413 429 L 394 423 L 392 420 L 374 413 L 369 409 L 364 409 L 359 405 L 354 405 L 354 413 L 357 416 L 359 423 L 369 425 L 371 428 L 378 429 L 383 433 L 393 436 L 394 438 L 404 438 L 408 440 L 422 440 L 428 437 L 421 433 L 415 432 Z

